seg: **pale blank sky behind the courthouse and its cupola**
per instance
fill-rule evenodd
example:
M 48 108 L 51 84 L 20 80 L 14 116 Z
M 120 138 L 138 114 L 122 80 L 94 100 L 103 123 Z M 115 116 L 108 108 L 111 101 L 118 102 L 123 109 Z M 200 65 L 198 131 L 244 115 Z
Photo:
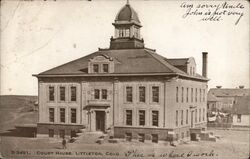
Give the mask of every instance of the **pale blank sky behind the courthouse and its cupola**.
M 202 52 L 208 52 L 209 88 L 249 88 L 247 1 L 229 1 L 227 5 L 235 8 L 224 6 L 231 13 L 219 21 L 203 21 L 204 15 L 194 14 L 213 11 L 223 1 L 129 3 L 139 15 L 147 48 L 167 58 L 194 57 L 200 74 Z M 243 8 L 237 8 L 238 3 Z M 112 23 L 125 4 L 126 0 L 1 1 L 0 94 L 37 95 L 37 78 L 32 74 L 108 48 L 114 35 Z M 195 12 L 199 4 L 208 8 Z

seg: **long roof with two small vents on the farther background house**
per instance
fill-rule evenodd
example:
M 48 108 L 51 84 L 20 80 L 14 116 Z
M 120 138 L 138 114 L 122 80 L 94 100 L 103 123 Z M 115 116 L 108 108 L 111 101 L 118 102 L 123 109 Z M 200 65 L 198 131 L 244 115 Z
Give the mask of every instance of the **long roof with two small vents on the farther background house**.
M 249 89 L 240 88 L 211 88 L 209 93 L 216 97 L 237 97 L 249 95 Z

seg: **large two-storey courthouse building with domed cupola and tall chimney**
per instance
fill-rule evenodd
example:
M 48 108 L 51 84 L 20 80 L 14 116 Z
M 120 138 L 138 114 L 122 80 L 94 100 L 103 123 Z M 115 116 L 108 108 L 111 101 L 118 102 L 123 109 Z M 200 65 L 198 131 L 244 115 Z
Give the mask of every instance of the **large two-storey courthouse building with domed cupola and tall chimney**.
M 199 75 L 194 58 L 169 59 L 144 46 L 142 24 L 126 4 L 107 49 L 35 75 L 39 136 L 74 136 L 80 129 L 115 138 L 166 140 L 206 126 L 207 53 Z M 183 48 L 185 49 L 185 48 Z

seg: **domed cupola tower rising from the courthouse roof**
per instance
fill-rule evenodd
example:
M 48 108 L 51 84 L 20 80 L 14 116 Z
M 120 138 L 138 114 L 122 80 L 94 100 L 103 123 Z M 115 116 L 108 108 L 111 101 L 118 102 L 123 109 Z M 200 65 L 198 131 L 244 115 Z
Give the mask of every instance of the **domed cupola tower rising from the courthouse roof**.
M 118 12 L 112 24 L 115 27 L 115 37 L 111 37 L 110 49 L 144 48 L 140 35 L 141 22 L 128 1 Z

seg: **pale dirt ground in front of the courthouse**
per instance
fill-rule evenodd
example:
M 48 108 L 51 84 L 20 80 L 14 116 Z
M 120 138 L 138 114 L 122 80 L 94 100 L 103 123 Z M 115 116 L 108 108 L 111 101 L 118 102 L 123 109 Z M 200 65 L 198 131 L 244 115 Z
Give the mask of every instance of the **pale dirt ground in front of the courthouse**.
M 210 130 L 221 138 L 217 142 L 189 142 L 176 147 L 163 143 L 120 142 L 117 144 L 68 143 L 61 139 L 1 137 L 1 152 L 6 158 L 190 158 L 247 159 L 249 131 Z

